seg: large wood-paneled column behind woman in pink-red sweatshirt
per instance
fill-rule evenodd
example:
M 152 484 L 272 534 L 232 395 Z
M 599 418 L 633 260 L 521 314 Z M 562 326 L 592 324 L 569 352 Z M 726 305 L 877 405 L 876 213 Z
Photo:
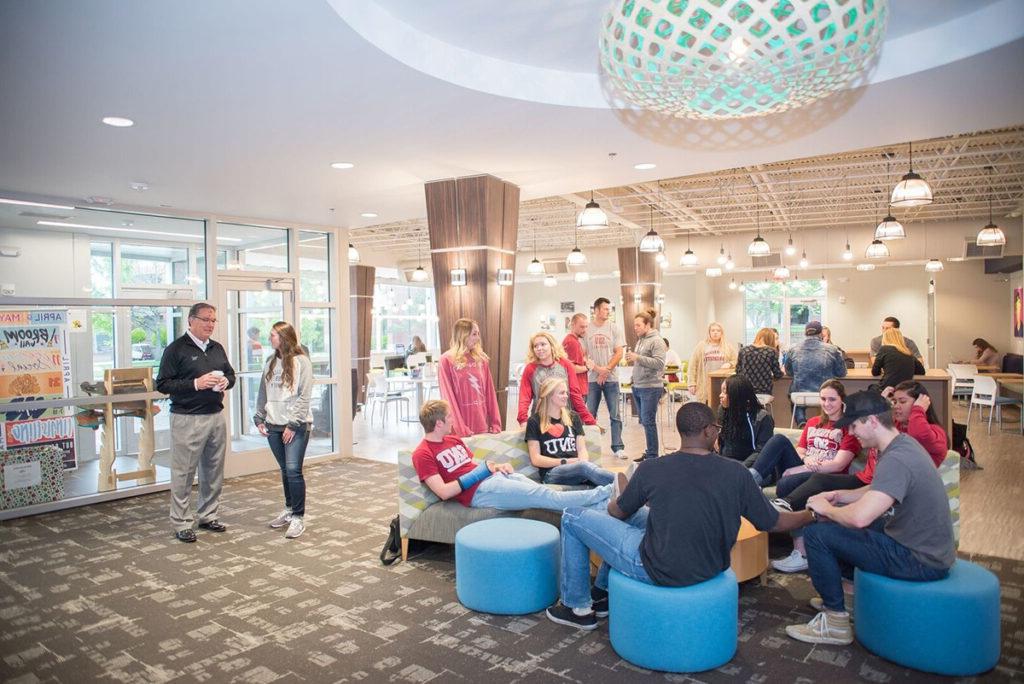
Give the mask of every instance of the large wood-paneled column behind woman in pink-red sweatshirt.
M 514 288 L 498 285 L 498 269 L 515 271 L 519 187 L 483 175 L 436 180 L 425 190 L 441 348 L 459 318 L 479 324 L 504 423 Z M 465 286 L 452 285 L 453 268 L 466 269 Z

